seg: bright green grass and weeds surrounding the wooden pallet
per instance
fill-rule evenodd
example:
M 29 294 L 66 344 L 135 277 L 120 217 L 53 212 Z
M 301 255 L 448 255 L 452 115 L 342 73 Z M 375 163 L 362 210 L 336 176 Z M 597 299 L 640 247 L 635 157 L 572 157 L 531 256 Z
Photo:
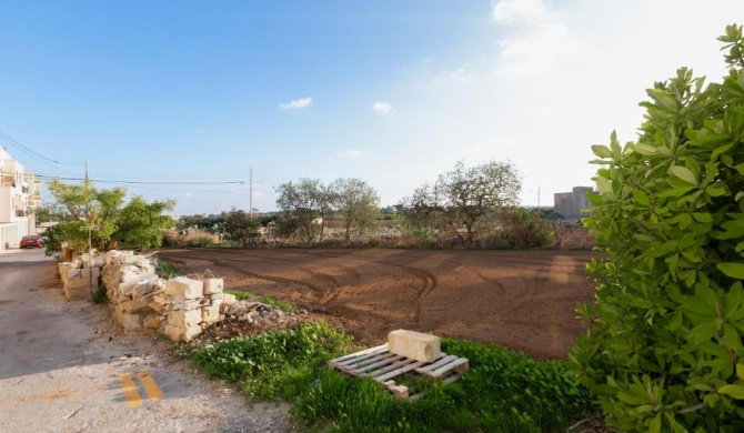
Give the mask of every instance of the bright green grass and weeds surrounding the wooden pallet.
M 212 377 L 239 384 L 250 397 L 294 402 L 293 420 L 338 432 L 552 432 L 593 413 L 592 395 L 566 377 L 564 361 L 539 362 L 494 344 L 443 339 L 442 350 L 467 358 L 471 370 L 418 401 L 394 401 L 370 379 L 328 370 L 350 339 L 325 323 L 269 332 L 199 349 L 194 363 Z

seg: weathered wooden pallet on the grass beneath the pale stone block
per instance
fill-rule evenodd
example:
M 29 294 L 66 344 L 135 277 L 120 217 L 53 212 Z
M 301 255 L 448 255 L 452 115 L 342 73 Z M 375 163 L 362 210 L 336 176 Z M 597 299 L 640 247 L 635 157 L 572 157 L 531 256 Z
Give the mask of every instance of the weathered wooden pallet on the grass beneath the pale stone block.
M 421 394 L 409 395 L 409 387 L 395 384 L 395 377 L 405 373 L 414 373 L 448 384 L 456 381 L 470 370 L 467 360 L 464 358 L 442 353 L 441 358 L 431 362 L 415 361 L 391 353 L 388 350 L 388 343 L 336 358 L 329 361 L 329 365 L 333 370 L 352 376 L 371 377 L 385 385 L 394 397 L 410 400 L 419 399 Z

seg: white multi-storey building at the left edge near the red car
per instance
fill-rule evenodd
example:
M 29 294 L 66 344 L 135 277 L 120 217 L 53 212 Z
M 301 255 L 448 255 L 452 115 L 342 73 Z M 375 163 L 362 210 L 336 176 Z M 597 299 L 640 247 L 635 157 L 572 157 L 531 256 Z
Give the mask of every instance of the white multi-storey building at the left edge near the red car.
M 0 250 L 18 246 L 22 236 L 36 234 L 33 210 L 40 204 L 41 181 L 0 147 Z

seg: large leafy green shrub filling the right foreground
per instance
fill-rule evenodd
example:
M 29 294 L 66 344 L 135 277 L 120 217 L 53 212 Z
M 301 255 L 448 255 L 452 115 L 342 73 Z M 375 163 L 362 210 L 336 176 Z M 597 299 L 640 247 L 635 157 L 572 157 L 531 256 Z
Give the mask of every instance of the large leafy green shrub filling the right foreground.
M 634 143 L 595 145 L 585 224 L 593 328 L 572 373 L 625 431 L 744 431 L 744 39 L 730 26 L 723 83 L 682 68 L 643 102 Z

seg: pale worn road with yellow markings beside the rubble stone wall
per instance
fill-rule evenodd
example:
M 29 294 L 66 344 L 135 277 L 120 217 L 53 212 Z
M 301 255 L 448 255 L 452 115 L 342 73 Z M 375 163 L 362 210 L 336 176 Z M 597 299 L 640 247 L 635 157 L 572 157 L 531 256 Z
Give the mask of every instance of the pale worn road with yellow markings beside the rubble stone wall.
M 68 302 L 42 250 L 0 253 L 0 431 L 282 432 L 286 406 L 248 406 L 162 341 L 124 336 L 107 308 Z

